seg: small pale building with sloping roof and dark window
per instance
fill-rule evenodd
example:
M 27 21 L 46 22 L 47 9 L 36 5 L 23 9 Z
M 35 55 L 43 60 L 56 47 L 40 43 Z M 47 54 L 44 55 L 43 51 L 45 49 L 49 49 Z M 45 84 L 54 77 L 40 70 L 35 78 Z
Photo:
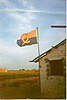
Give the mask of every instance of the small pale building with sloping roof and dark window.
M 66 39 L 30 62 L 39 62 L 42 97 L 65 98 Z

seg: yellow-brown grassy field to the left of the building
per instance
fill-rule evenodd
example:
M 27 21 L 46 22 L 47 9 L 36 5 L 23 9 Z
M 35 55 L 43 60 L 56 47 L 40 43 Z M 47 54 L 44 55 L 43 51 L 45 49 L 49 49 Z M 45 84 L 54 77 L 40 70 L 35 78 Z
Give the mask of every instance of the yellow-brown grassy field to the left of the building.
M 0 99 L 41 98 L 39 71 L 0 72 Z

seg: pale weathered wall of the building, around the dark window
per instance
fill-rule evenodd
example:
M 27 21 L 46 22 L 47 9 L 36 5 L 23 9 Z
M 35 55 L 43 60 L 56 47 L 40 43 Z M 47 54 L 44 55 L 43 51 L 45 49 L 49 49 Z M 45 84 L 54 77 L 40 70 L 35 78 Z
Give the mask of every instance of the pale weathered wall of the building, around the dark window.
M 65 98 L 65 77 L 64 76 L 48 76 L 47 66 L 49 62 L 46 59 L 64 58 L 66 59 L 66 44 L 61 44 L 53 48 L 40 60 L 40 81 L 41 94 L 44 98 Z

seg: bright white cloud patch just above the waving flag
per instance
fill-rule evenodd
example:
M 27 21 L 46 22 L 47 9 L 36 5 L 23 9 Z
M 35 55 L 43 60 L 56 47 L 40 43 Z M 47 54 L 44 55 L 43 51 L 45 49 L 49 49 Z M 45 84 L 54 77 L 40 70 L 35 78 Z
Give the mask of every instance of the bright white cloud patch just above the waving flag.
M 35 15 L 30 13 L 7 13 L 8 17 L 10 17 L 12 20 L 14 20 L 13 26 L 8 29 L 12 33 L 24 33 L 29 32 L 33 29 L 32 22 L 35 20 Z

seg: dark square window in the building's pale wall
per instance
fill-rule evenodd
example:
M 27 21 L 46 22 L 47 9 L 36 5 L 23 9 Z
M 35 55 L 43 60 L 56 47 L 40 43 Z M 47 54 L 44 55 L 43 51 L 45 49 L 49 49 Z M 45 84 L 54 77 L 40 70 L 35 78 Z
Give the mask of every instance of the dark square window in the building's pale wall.
M 62 76 L 64 72 L 64 64 L 62 60 L 50 61 L 50 74 Z

